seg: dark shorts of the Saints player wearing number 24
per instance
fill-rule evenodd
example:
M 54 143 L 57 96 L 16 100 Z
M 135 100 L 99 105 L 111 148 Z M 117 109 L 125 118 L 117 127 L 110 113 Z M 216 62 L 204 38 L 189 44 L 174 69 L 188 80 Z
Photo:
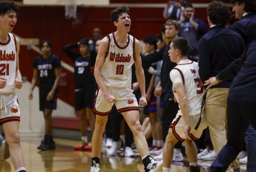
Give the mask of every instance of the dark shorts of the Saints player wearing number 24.
M 59 90 L 56 89 L 53 99 L 46 100 L 48 93 L 50 90 L 40 89 L 39 88 L 39 109 L 40 111 L 44 111 L 45 109 L 56 110 L 57 108 L 57 99 L 59 96 Z

